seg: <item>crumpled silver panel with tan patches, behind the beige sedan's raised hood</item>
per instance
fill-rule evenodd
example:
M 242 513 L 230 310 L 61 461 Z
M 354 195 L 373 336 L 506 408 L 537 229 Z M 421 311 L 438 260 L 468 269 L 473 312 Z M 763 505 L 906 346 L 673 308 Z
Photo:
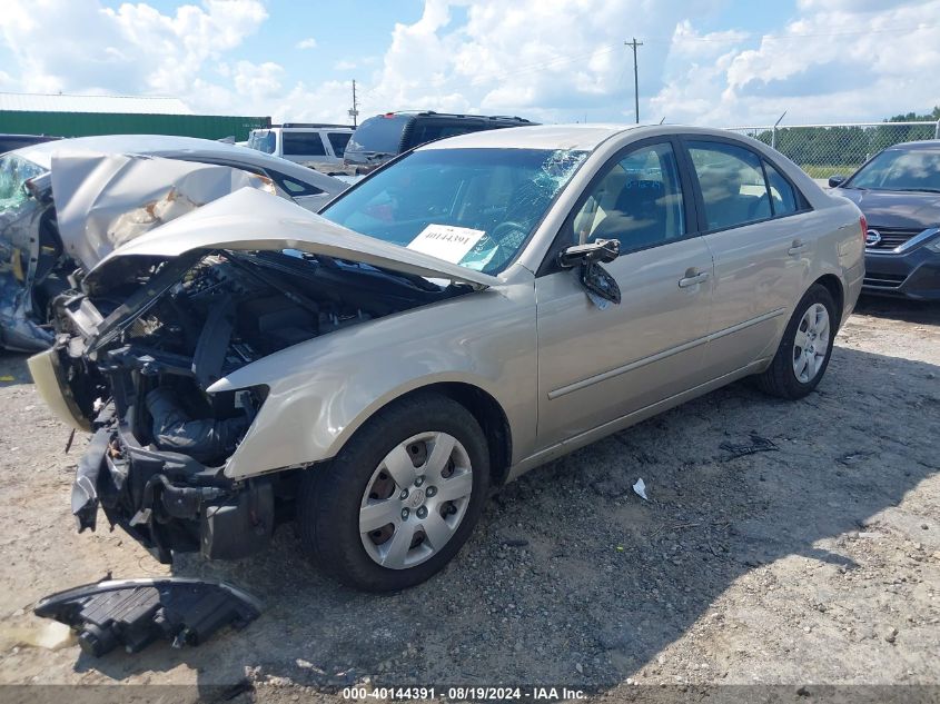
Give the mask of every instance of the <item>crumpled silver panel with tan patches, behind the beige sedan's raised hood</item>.
M 56 152 L 52 198 L 66 252 L 86 270 L 117 247 L 241 188 L 270 179 L 228 166 L 139 155 Z

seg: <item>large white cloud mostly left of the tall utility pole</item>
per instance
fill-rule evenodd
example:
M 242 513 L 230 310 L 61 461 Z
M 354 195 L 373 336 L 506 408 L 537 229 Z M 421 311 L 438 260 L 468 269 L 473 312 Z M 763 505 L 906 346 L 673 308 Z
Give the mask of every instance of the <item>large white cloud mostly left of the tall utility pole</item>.
M 422 18 L 396 24 L 369 108 L 513 112 L 541 120 L 629 119 L 632 80 L 623 28 L 670 36 L 671 18 L 721 0 L 426 0 Z M 643 48 L 641 88 L 660 86 L 667 47 Z M 632 77 L 631 77 L 632 78 Z

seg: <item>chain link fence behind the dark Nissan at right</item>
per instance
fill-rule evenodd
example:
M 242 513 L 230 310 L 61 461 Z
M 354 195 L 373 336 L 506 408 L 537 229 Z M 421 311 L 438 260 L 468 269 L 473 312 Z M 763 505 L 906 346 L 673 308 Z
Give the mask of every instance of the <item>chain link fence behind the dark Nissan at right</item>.
M 730 127 L 729 130 L 770 145 L 813 178 L 849 176 L 885 147 L 903 141 L 940 139 L 937 122 L 858 122 Z

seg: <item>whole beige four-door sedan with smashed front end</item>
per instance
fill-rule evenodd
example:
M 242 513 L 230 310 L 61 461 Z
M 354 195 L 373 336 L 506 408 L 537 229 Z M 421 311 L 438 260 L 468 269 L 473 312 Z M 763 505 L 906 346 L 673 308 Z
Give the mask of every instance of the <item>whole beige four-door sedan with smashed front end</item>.
M 320 216 L 244 189 L 142 235 L 30 368 L 93 432 L 79 529 L 100 506 L 164 561 L 235 558 L 296 520 L 324 569 L 399 589 L 491 486 L 742 377 L 812 391 L 863 250 L 854 205 L 748 138 L 496 130 Z

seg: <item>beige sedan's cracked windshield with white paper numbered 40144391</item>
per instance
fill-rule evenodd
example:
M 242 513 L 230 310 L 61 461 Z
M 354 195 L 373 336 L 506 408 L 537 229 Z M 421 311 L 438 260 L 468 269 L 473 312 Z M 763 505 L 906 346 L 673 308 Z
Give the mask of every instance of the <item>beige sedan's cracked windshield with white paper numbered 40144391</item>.
M 496 274 L 586 156 L 552 149 L 416 151 L 323 215 L 357 232 Z

